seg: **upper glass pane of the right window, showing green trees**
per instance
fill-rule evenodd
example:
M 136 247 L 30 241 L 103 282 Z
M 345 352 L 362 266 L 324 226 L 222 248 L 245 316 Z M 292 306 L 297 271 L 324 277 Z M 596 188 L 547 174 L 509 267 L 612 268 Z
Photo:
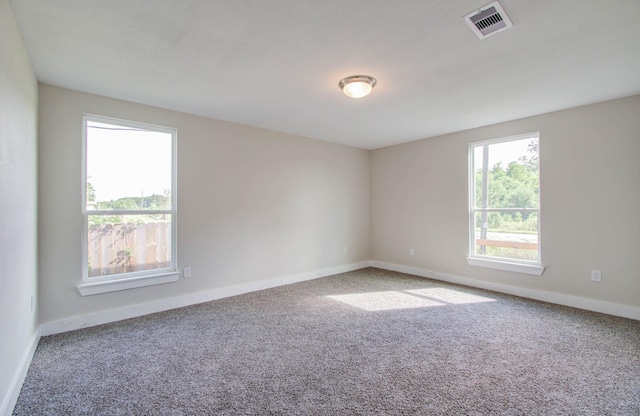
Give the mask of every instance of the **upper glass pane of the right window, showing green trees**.
M 538 138 L 473 149 L 477 208 L 538 208 Z

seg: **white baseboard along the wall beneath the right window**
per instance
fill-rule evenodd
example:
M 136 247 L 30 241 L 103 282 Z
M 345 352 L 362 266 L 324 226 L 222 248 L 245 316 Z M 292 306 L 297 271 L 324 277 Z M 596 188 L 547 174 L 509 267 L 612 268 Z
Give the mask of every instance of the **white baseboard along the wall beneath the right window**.
M 407 273 L 415 276 L 427 277 L 430 279 L 477 287 L 479 289 L 487 289 L 494 292 L 506 293 L 508 295 L 555 303 L 557 305 L 571 306 L 573 308 L 585 309 L 588 311 L 606 313 L 608 315 L 640 320 L 640 308 L 636 308 L 633 306 L 620 305 L 617 303 L 582 298 L 573 295 L 565 295 L 562 293 L 547 292 L 543 290 L 528 289 L 501 283 L 487 282 L 484 280 L 470 279 L 468 277 L 455 276 L 452 274 L 440 273 L 418 267 L 403 266 L 400 264 L 386 263 L 381 261 L 371 261 L 369 262 L 369 264 L 371 265 L 371 267 L 377 267 L 379 269 Z

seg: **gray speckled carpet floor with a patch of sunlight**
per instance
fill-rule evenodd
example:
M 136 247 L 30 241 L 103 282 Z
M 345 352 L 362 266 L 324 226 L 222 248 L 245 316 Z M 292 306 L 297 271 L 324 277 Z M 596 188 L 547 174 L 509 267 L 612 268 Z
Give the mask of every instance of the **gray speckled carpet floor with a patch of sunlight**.
M 640 321 L 364 269 L 43 337 L 15 415 L 640 415 Z

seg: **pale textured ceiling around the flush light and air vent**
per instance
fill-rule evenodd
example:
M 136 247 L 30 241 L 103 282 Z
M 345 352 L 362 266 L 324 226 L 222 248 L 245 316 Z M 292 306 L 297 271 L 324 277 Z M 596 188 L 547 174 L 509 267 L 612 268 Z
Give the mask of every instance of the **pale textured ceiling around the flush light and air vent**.
M 502 0 L 480 40 L 489 2 L 11 4 L 41 82 L 365 149 L 640 93 L 639 0 Z

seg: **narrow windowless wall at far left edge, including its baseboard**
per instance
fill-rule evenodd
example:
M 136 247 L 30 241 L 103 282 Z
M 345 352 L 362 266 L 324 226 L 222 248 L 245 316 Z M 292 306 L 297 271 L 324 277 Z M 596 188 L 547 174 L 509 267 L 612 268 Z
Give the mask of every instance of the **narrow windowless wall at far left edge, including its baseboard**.
M 11 411 L 37 333 L 37 88 L 11 7 L 0 0 L 0 414 Z

